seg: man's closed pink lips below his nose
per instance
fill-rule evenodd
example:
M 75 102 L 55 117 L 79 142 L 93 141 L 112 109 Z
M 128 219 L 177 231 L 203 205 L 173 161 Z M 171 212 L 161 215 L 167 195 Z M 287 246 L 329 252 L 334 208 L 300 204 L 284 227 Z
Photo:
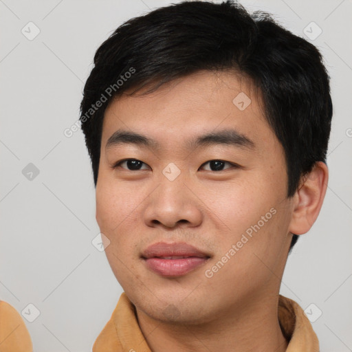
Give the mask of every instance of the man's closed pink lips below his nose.
M 142 253 L 149 270 L 160 276 L 184 276 L 206 263 L 210 255 L 188 243 L 159 242 L 150 245 Z

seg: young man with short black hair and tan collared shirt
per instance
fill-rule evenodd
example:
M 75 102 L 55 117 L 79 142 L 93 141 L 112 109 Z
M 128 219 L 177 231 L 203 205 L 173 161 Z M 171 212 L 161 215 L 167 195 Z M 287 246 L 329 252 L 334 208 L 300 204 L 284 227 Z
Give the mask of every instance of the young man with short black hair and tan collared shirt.
M 100 351 L 319 351 L 279 295 L 325 197 L 316 47 L 231 1 L 181 2 L 98 48 L 81 103 L 96 219 L 124 289 Z

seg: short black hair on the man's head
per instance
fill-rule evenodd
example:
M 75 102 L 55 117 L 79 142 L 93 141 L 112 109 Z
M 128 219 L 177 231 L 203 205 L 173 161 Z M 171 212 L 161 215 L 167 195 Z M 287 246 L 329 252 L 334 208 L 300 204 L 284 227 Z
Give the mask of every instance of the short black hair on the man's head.
M 80 104 L 95 186 L 109 102 L 204 69 L 232 70 L 261 91 L 265 118 L 285 150 L 287 197 L 316 162 L 326 162 L 333 108 L 319 50 L 267 12 L 249 14 L 230 0 L 182 1 L 126 21 L 96 51 Z

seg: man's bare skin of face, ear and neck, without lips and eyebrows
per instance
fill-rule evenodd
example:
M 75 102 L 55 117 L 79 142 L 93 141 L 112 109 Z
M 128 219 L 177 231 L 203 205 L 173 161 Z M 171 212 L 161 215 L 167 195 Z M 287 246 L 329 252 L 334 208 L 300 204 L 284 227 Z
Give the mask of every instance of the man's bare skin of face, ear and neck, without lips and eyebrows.
M 232 102 L 241 91 L 252 100 L 244 111 Z M 260 95 L 245 79 L 204 71 L 146 96 L 120 96 L 105 112 L 96 219 L 110 241 L 105 252 L 111 269 L 135 305 L 154 352 L 287 349 L 277 318 L 281 278 L 292 233 L 307 232 L 318 217 L 328 171 L 318 162 L 287 199 L 283 147 L 261 106 Z M 225 128 L 246 135 L 255 147 L 186 148 L 192 137 Z M 118 129 L 153 137 L 159 148 L 105 148 Z M 140 170 L 126 163 L 112 167 L 126 158 L 144 164 Z M 226 163 L 214 170 L 210 160 Z M 171 162 L 181 172 L 173 181 L 162 173 Z M 271 208 L 276 214 L 206 277 L 205 271 Z M 140 258 L 159 241 L 190 243 L 210 259 L 184 276 L 159 276 Z

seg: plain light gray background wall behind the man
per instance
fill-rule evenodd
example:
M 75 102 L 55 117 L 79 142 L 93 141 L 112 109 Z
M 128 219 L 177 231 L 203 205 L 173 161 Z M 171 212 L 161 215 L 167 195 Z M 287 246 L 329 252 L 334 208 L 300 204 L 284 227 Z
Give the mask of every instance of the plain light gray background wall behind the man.
M 91 350 L 122 292 L 91 243 L 99 228 L 83 134 L 63 131 L 78 119 L 100 43 L 123 21 L 168 3 L 0 0 L 0 298 L 30 312 L 26 319 L 39 309 L 25 320 L 36 352 Z M 313 318 L 322 311 L 312 323 L 321 351 L 352 351 L 352 2 L 241 3 L 274 13 L 300 36 L 312 21 L 322 29 L 311 42 L 331 75 L 329 188 L 318 220 L 289 256 L 281 294 Z M 21 32 L 35 34 L 30 21 L 41 31 L 32 41 Z

